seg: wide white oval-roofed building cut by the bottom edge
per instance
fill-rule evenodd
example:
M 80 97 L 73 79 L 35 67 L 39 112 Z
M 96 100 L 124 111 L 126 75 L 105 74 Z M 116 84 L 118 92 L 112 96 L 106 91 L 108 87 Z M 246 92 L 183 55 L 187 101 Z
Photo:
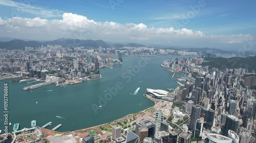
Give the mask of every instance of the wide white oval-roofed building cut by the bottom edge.
M 206 135 L 209 143 L 232 143 L 232 139 L 224 135 L 209 133 Z

